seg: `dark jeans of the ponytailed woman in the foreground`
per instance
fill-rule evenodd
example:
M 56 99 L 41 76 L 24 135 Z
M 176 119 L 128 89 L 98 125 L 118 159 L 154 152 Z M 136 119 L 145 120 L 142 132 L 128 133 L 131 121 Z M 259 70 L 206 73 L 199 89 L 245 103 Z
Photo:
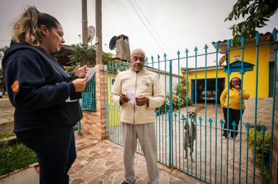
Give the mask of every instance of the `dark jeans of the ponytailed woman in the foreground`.
M 69 183 L 67 171 L 76 159 L 73 128 L 58 128 L 43 131 L 40 135 L 20 139 L 31 148 L 40 164 L 40 184 Z

